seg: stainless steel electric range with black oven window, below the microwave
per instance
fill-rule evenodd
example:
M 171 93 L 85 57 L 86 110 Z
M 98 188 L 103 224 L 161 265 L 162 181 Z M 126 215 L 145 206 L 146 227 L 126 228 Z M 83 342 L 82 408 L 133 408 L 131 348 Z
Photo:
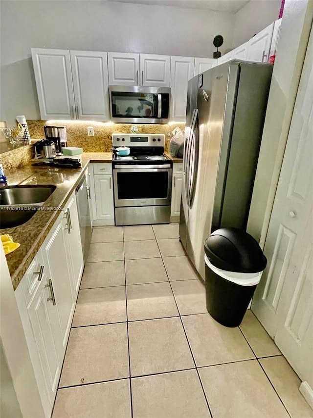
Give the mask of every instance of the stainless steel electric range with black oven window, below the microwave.
M 113 152 L 115 225 L 169 223 L 172 161 L 164 155 L 164 134 L 112 134 L 113 148 L 130 148 L 130 155 Z

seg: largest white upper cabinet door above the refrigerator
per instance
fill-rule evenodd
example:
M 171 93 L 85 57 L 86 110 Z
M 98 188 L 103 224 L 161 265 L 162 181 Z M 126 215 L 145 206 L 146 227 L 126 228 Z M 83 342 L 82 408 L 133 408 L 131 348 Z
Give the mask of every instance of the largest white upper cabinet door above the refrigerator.
M 273 27 L 272 23 L 247 42 L 247 61 L 268 62 Z

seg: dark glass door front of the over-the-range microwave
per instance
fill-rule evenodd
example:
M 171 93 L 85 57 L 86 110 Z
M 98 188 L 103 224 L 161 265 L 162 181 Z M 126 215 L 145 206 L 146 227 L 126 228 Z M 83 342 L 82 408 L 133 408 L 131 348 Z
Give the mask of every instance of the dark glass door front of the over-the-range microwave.
M 113 118 L 168 118 L 169 94 L 111 92 Z

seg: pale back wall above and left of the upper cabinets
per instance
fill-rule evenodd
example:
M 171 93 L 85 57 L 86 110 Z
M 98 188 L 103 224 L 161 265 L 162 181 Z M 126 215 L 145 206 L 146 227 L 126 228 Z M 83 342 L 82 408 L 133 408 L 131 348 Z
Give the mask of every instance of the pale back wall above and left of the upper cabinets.
M 213 57 L 232 46 L 233 15 L 109 1 L 0 1 L 0 120 L 40 119 L 30 48 Z

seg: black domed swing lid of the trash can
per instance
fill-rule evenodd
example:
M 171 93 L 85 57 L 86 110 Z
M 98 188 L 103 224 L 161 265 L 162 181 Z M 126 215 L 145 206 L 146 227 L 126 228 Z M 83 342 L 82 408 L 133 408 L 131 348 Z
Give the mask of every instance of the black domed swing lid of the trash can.
M 255 239 L 237 228 L 221 228 L 204 242 L 207 258 L 221 270 L 256 273 L 266 268 L 267 259 Z

